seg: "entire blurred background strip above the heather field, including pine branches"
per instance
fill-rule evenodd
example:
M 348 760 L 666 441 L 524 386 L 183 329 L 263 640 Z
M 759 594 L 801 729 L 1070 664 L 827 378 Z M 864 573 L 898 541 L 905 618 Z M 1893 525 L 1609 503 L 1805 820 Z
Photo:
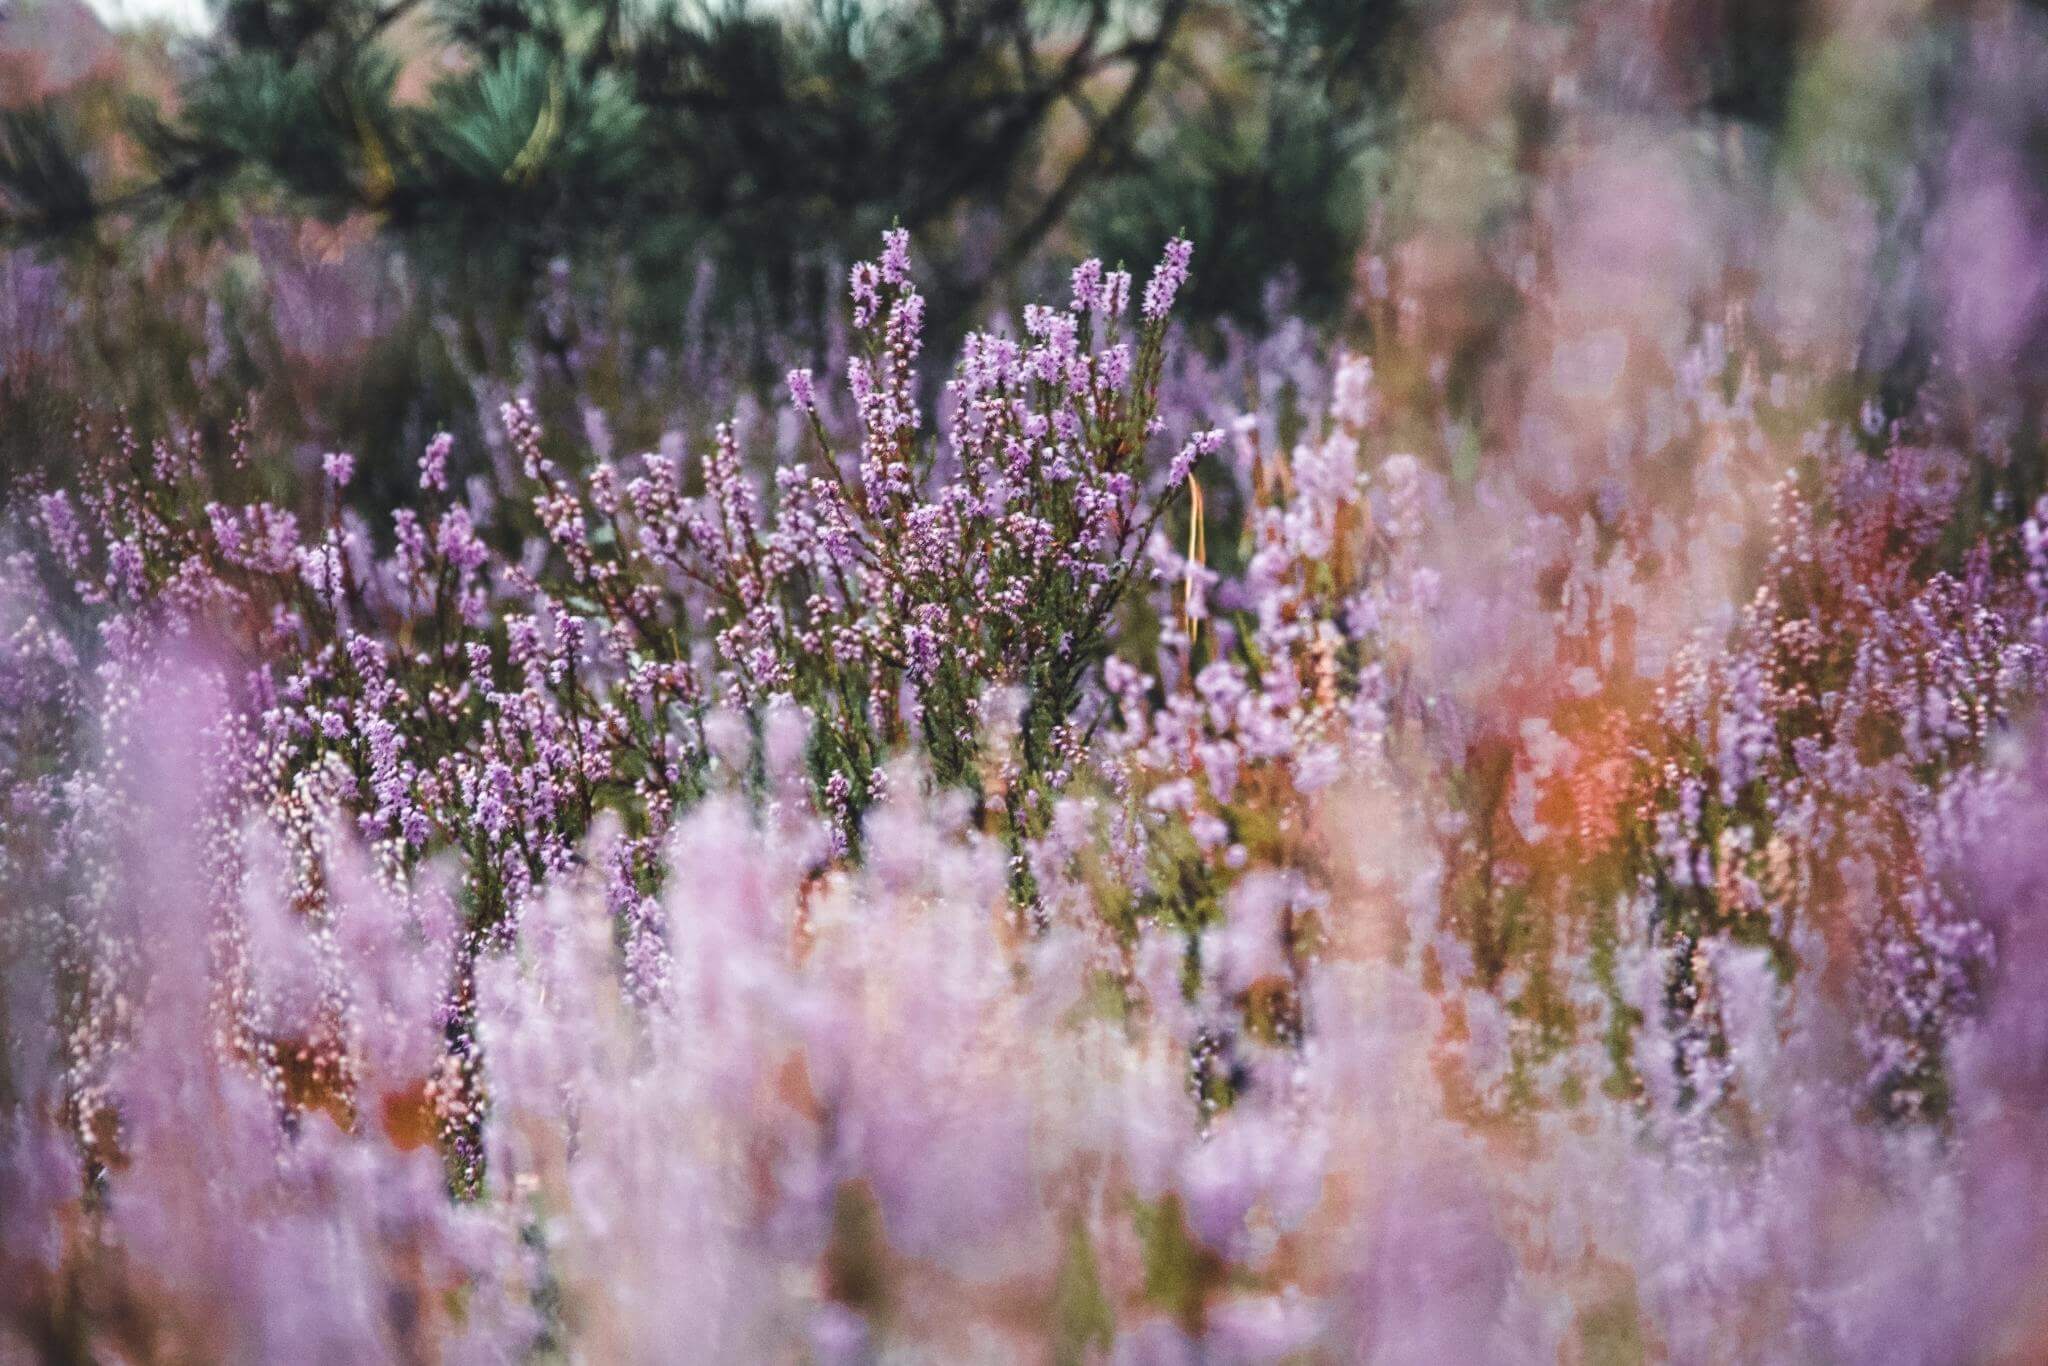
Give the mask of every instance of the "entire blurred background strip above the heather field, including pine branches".
M 375 496 L 514 389 L 651 444 L 829 358 L 891 223 L 940 346 L 1186 231 L 1188 346 L 1401 332 L 1448 463 L 1731 299 L 2034 393 L 2044 53 L 2005 0 L 14 0 L 0 461 L 242 416 Z

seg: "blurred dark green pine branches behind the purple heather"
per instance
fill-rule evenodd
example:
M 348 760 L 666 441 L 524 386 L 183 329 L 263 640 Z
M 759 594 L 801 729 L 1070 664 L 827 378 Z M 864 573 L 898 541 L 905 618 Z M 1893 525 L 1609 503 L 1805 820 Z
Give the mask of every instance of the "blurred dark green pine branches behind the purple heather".
M 51 242 L 113 238 L 113 213 L 229 221 L 188 213 L 203 201 L 367 213 L 471 297 L 522 305 L 555 260 L 623 262 L 662 330 L 700 262 L 717 305 L 817 324 L 825 281 L 897 221 L 926 244 L 944 336 L 1079 219 L 1133 260 L 1200 233 L 1198 311 L 1249 315 L 1268 274 L 1341 279 L 1403 8 L 225 0 L 176 104 L 96 131 L 139 147 L 145 178 L 94 184 L 53 113 L 23 117 L 0 139 L 4 225 Z M 1202 70 L 1219 35 L 1233 70 Z

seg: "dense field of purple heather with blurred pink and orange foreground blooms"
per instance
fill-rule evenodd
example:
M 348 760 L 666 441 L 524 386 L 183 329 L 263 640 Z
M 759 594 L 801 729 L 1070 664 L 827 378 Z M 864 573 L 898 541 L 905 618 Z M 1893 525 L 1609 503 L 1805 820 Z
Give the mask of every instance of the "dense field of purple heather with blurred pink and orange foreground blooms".
M 1454 469 L 1374 358 L 1171 354 L 1190 254 L 940 389 L 891 233 L 778 412 L 512 397 L 379 520 L 84 422 L 0 561 L 8 1354 L 2048 1352 L 2011 424 L 1731 315 Z

